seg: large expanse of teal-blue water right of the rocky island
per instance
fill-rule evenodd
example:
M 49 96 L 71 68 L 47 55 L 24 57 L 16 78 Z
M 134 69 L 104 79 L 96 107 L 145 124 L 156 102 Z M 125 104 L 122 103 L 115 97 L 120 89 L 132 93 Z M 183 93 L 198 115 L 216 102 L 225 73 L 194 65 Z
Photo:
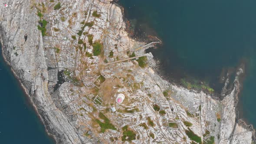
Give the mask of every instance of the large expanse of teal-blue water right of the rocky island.
M 119 0 L 135 35 L 158 36 L 150 50 L 169 78 L 197 79 L 220 92 L 223 69 L 246 64 L 240 118 L 256 127 L 256 0 Z M 176 80 L 175 80 L 176 79 Z

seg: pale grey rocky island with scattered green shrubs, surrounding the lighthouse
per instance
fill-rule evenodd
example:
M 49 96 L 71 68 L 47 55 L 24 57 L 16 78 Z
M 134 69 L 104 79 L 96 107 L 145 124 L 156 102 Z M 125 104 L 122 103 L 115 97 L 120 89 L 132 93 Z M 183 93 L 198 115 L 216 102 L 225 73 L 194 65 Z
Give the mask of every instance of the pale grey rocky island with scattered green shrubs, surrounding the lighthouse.
M 255 143 L 236 110 L 244 65 L 216 97 L 162 79 L 113 0 L 5 3 L 3 56 L 57 144 Z

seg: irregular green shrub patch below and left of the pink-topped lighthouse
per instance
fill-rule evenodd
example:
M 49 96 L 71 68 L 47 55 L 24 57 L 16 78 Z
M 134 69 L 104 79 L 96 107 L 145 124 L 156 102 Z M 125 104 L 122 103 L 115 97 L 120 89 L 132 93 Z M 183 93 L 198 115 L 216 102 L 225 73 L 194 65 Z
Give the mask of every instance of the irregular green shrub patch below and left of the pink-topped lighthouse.
M 101 127 L 101 132 L 102 133 L 104 133 L 106 131 L 106 129 L 116 130 L 115 126 L 110 123 L 109 119 L 102 112 L 100 112 L 98 116 L 99 116 L 99 118 L 104 120 L 104 123 L 103 123 L 100 120 L 96 119 L 96 122 Z

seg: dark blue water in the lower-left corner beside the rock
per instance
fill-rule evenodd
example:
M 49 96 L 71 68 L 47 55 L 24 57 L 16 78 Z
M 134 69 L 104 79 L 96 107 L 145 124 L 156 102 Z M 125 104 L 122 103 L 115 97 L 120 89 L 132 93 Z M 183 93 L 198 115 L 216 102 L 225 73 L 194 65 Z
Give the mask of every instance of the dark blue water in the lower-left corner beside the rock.
M 0 46 L 1 51 L 1 46 Z M 1 52 L 2 53 L 2 52 Z M 0 55 L 0 144 L 54 144 Z

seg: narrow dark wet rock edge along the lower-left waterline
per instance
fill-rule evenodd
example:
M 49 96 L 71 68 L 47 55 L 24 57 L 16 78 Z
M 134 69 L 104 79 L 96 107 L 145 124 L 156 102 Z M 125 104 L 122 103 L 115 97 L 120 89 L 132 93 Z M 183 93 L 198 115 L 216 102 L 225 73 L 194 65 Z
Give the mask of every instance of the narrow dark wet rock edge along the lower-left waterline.
M 36 116 L 39 118 L 39 121 L 43 124 L 44 130 L 45 130 L 47 136 L 49 136 L 49 138 L 53 139 L 55 144 L 57 144 L 56 136 L 53 135 L 53 134 L 50 134 L 49 131 L 46 129 L 46 124 L 44 123 L 42 116 L 39 114 L 39 111 L 36 108 L 36 105 L 34 104 L 32 99 L 30 98 L 30 95 L 28 94 L 27 89 L 25 88 L 23 83 L 20 81 L 18 75 L 14 72 L 14 70 L 12 68 L 12 65 L 10 65 L 10 62 L 8 62 L 6 57 L 4 56 L 4 52 L 3 52 L 4 46 L 3 46 L 3 39 L 2 39 L 2 37 L 0 37 L 0 45 L 1 45 L 1 55 L 3 56 L 3 61 L 7 64 L 7 66 L 10 67 L 10 71 L 13 73 L 14 78 L 18 81 L 18 83 L 19 83 L 19 85 L 20 85 L 24 95 L 26 95 L 25 97 L 28 100 L 27 102 L 29 102 L 30 106 L 32 106 L 33 110 L 36 113 Z

